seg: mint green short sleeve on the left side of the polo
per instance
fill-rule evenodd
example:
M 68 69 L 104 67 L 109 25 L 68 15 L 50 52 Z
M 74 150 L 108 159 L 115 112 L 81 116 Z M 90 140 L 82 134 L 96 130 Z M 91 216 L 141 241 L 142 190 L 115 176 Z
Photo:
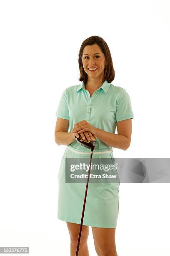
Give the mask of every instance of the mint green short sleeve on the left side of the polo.
M 67 104 L 67 88 L 62 92 L 60 102 L 55 112 L 55 115 L 59 118 L 70 119 L 69 109 Z

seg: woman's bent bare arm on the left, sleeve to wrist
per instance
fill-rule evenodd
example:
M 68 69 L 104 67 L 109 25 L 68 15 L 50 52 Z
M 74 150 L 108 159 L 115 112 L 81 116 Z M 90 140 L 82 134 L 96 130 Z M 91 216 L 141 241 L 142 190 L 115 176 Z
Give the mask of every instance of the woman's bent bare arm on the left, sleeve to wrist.
M 69 133 L 69 119 L 57 118 L 55 125 L 55 143 L 57 145 L 70 145 L 75 141 L 75 133 Z

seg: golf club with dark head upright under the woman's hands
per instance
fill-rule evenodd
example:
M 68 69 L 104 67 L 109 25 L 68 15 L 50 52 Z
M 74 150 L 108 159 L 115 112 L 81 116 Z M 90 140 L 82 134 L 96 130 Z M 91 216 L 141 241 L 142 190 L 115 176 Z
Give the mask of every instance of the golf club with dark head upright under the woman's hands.
M 93 137 L 93 136 L 92 136 Z M 90 148 L 91 150 L 91 154 L 90 154 L 90 166 L 91 166 L 91 161 L 92 161 L 92 153 L 93 150 L 95 148 L 95 138 L 93 137 L 91 141 L 87 141 L 87 139 L 82 140 L 82 138 L 77 138 L 77 136 L 75 135 L 75 139 L 78 143 L 80 143 L 81 145 Z M 90 166 L 88 169 L 88 178 L 87 178 L 87 183 L 86 183 L 86 189 L 85 189 L 85 199 L 84 199 L 84 204 L 82 207 L 82 217 L 81 217 L 81 223 L 80 223 L 80 230 L 79 230 L 79 236 L 78 236 L 78 242 L 77 242 L 77 250 L 76 250 L 76 254 L 75 256 L 78 255 L 78 251 L 79 251 L 79 246 L 80 246 L 80 238 L 81 238 L 81 231 L 82 231 L 82 223 L 83 223 L 83 218 L 84 218 L 84 212 L 85 212 L 85 202 L 86 202 L 86 197 L 87 197 L 87 189 L 88 189 L 88 182 L 89 182 L 89 177 L 90 177 Z

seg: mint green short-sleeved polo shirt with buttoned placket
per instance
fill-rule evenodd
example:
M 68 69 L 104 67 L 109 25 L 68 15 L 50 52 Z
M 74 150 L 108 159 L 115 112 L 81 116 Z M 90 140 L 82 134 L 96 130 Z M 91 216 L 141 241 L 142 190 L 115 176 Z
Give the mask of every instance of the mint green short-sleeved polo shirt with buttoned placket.
M 115 133 L 117 122 L 133 119 L 130 97 L 125 89 L 108 83 L 90 93 L 85 90 L 85 84 L 67 87 L 61 95 L 55 115 L 70 120 L 69 132 L 74 124 L 86 120 L 94 127 L 109 133 Z M 76 140 L 70 144 L 73 148 L 89 151 Z M 96 139 L 95 149 L 111 148 L 99 138 Z

